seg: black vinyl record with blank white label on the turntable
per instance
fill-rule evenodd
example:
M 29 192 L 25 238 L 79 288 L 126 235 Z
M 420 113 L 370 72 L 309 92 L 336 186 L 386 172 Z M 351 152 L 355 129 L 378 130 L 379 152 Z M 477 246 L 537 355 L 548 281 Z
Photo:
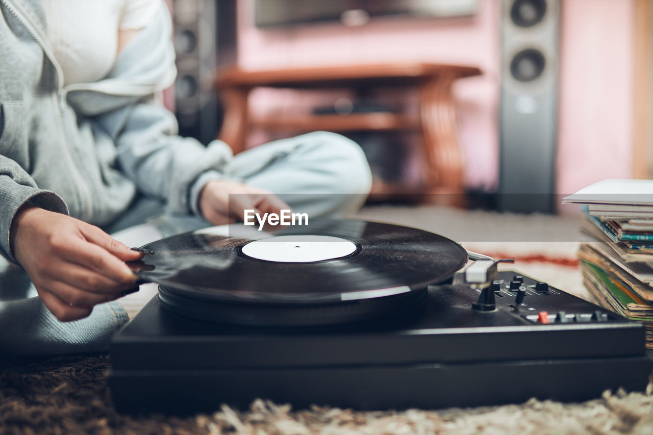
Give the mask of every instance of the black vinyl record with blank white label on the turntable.
M 132 263 L 169 298 L 319 305 L 423 291 L 467 261 L 460 245 L 419 229 L 343 219 L 270 227 L 242 223 L 171 236 Z

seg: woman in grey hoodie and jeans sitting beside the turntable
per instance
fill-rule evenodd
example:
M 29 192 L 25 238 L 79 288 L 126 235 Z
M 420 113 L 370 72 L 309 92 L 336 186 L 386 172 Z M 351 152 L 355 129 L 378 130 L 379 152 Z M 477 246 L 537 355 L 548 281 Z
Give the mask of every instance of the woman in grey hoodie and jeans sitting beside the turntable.
M 163 236 L 285 202 L 338 214 L 362 197 L 336 193 L 370 188 L 360 148 L 332 133 L 236 157 L 176 136 L 155 98 L 175 75 L 163 0 L 0 0 L 0 11 L 2 351 L 106 348 L 127 321 L 110 301 L 135 287 L 124 262 L 140 258 L 107 233 L 149 219 Z

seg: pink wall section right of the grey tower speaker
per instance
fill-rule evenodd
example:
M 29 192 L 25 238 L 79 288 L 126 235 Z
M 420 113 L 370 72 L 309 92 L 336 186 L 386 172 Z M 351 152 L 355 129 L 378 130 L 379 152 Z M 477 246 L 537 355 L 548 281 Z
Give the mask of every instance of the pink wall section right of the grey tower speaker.
M 632 176 L 633 3 L 562 1 L 559 193 Z

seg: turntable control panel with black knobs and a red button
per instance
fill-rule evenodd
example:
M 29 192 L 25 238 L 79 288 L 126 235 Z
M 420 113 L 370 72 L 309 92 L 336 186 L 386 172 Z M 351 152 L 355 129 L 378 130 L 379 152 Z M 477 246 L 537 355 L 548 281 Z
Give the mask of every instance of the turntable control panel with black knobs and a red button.
M 535 325 L 605 323 L 621 319 L 580 298 L 550 287 L 548 283 L 533 280 L 516 272 L 499 272 L 498 279 L 494 280 L 490 287 L 477 290 L 477 293 L 479 293 L 479 303 L 488 305 L 489 302 L 491 306 L 494 298 L 496 309 L 507 311 Z M 479 306 L 479 304 L 472 305 L 473 309 Z

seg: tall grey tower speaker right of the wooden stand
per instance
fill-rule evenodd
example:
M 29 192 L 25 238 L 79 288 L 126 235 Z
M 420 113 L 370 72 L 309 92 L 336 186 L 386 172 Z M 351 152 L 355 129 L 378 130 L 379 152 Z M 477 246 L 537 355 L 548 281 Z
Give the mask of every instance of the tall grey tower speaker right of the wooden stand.
M 555 210 L 558 0 L 502 0 L 498 206 Z

